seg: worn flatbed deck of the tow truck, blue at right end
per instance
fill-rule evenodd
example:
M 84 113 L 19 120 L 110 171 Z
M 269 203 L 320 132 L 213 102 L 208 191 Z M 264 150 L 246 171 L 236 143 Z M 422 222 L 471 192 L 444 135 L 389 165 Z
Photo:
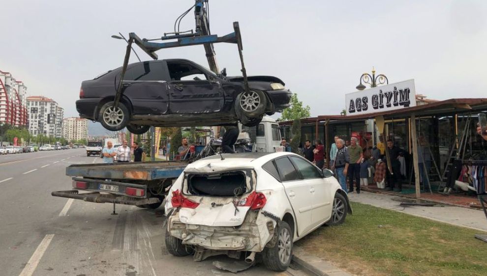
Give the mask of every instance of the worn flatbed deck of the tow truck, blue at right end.
M 102 179 L 156 180 L 177 178 L 186 166 L 187 163 L 176 161 L 81 164 L 67 167 L 66 175 Z

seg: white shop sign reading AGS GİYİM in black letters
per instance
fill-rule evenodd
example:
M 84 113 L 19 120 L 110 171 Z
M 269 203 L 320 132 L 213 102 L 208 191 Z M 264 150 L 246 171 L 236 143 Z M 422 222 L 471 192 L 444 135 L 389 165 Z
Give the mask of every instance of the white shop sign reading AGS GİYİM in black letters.
M 416 106 L 414 79 L 381 85 L 345 95 L 347 115 L 367 114 Z

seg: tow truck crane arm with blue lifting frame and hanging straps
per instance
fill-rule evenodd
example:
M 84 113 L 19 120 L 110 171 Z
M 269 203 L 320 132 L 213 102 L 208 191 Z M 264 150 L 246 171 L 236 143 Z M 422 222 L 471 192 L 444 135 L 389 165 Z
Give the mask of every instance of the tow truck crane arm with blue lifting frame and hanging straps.
M 128 61 L 130 58 L 131 47 L 132 43 L 135 43 L 139 46 L 144 52 L 146 52 L 152 59 L 156 60 L 158 58 L 155 51 L 160 49 L 166 48 L 174 48 L 174 47 L 183 47 L 183 46 L 192 46 L 192 45 L 201 45 L 205 47 L 206 57 L 208 59 L 208 64 L 210 69 L 215 74 L 220 74 L 218 70 L 218 64 L 216 62 L 215 51 L 213 48 L 213 43 L 220 43 L 220 42 L 227 42 L 227 43 L 236 43 L 238 45 L 239 55 L 240 55 L 240 62 L 242 66 L 242 75 L 243 75 L 243 82 L 245 86 L 245 90 L 248 91 L 248 82 L 247 82 L 247 74 L 245 71 L 245 66 L 243 63 L 243 54 L 242 54 L 242 36 L 240 34 L 240 26 L 239 22 L 233 23 L 234 32 L 228 35 L 218 36 L 212 35 L 210 32 L 210 22 L 208 19 L 207 8 L 205 8 L 205 3 L 208 5 L 208 0 L 195 0 L 194 4 L 194 18 L 195 18 L 195 31 L 187 31 L 187 32 L 179 32 L 179 30 L 174 33 L 165 33 L 164 36 L 154 39 L 141 39 L 135 33 L 129 34 L 128 44 L 125 52 L 125 58 L 123 60 L 122 66 L 122 74 L 120 77 L 120 82 L 117 88 L 117 93 L 115 94 L 114 105 L 118 106 L 120 102 L 120 98 L 122 97 L 123 93 L 123 79 L 125 76 L 125 71 L 127 70 Z M 191 7 L 191 8 L 193 8 Z M 191 8 L 189 10 L 191 10 Z M 189 12 L 187 10 L 183 13 L 177 20 L 180 20 L 184 17 L 184 15 Z M 176 24 L 175 24 L 176 26 Z M 167 40 L 174 40 L 176 41 L 168 41 Z M 163 42 L 152 42 L 154 40 L 162 40 Z

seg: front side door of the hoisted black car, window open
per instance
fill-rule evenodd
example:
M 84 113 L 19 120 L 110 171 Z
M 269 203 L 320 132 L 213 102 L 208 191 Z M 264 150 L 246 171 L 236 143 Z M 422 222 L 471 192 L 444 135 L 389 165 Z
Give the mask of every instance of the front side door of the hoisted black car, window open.
M 184 61 L 168 61 L 167 69 L 172 114 L 211 113 L 222 109 L 223 91 L 215 75 Z

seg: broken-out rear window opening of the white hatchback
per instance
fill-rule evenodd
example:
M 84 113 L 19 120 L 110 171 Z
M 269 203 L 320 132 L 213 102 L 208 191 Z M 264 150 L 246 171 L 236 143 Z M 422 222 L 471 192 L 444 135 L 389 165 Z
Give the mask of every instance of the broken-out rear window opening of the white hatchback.
M 252 190 L 252 178 L 250 171 L 188 174 L 186 187 L 187 192 L 195 196 L 241 196 Z

